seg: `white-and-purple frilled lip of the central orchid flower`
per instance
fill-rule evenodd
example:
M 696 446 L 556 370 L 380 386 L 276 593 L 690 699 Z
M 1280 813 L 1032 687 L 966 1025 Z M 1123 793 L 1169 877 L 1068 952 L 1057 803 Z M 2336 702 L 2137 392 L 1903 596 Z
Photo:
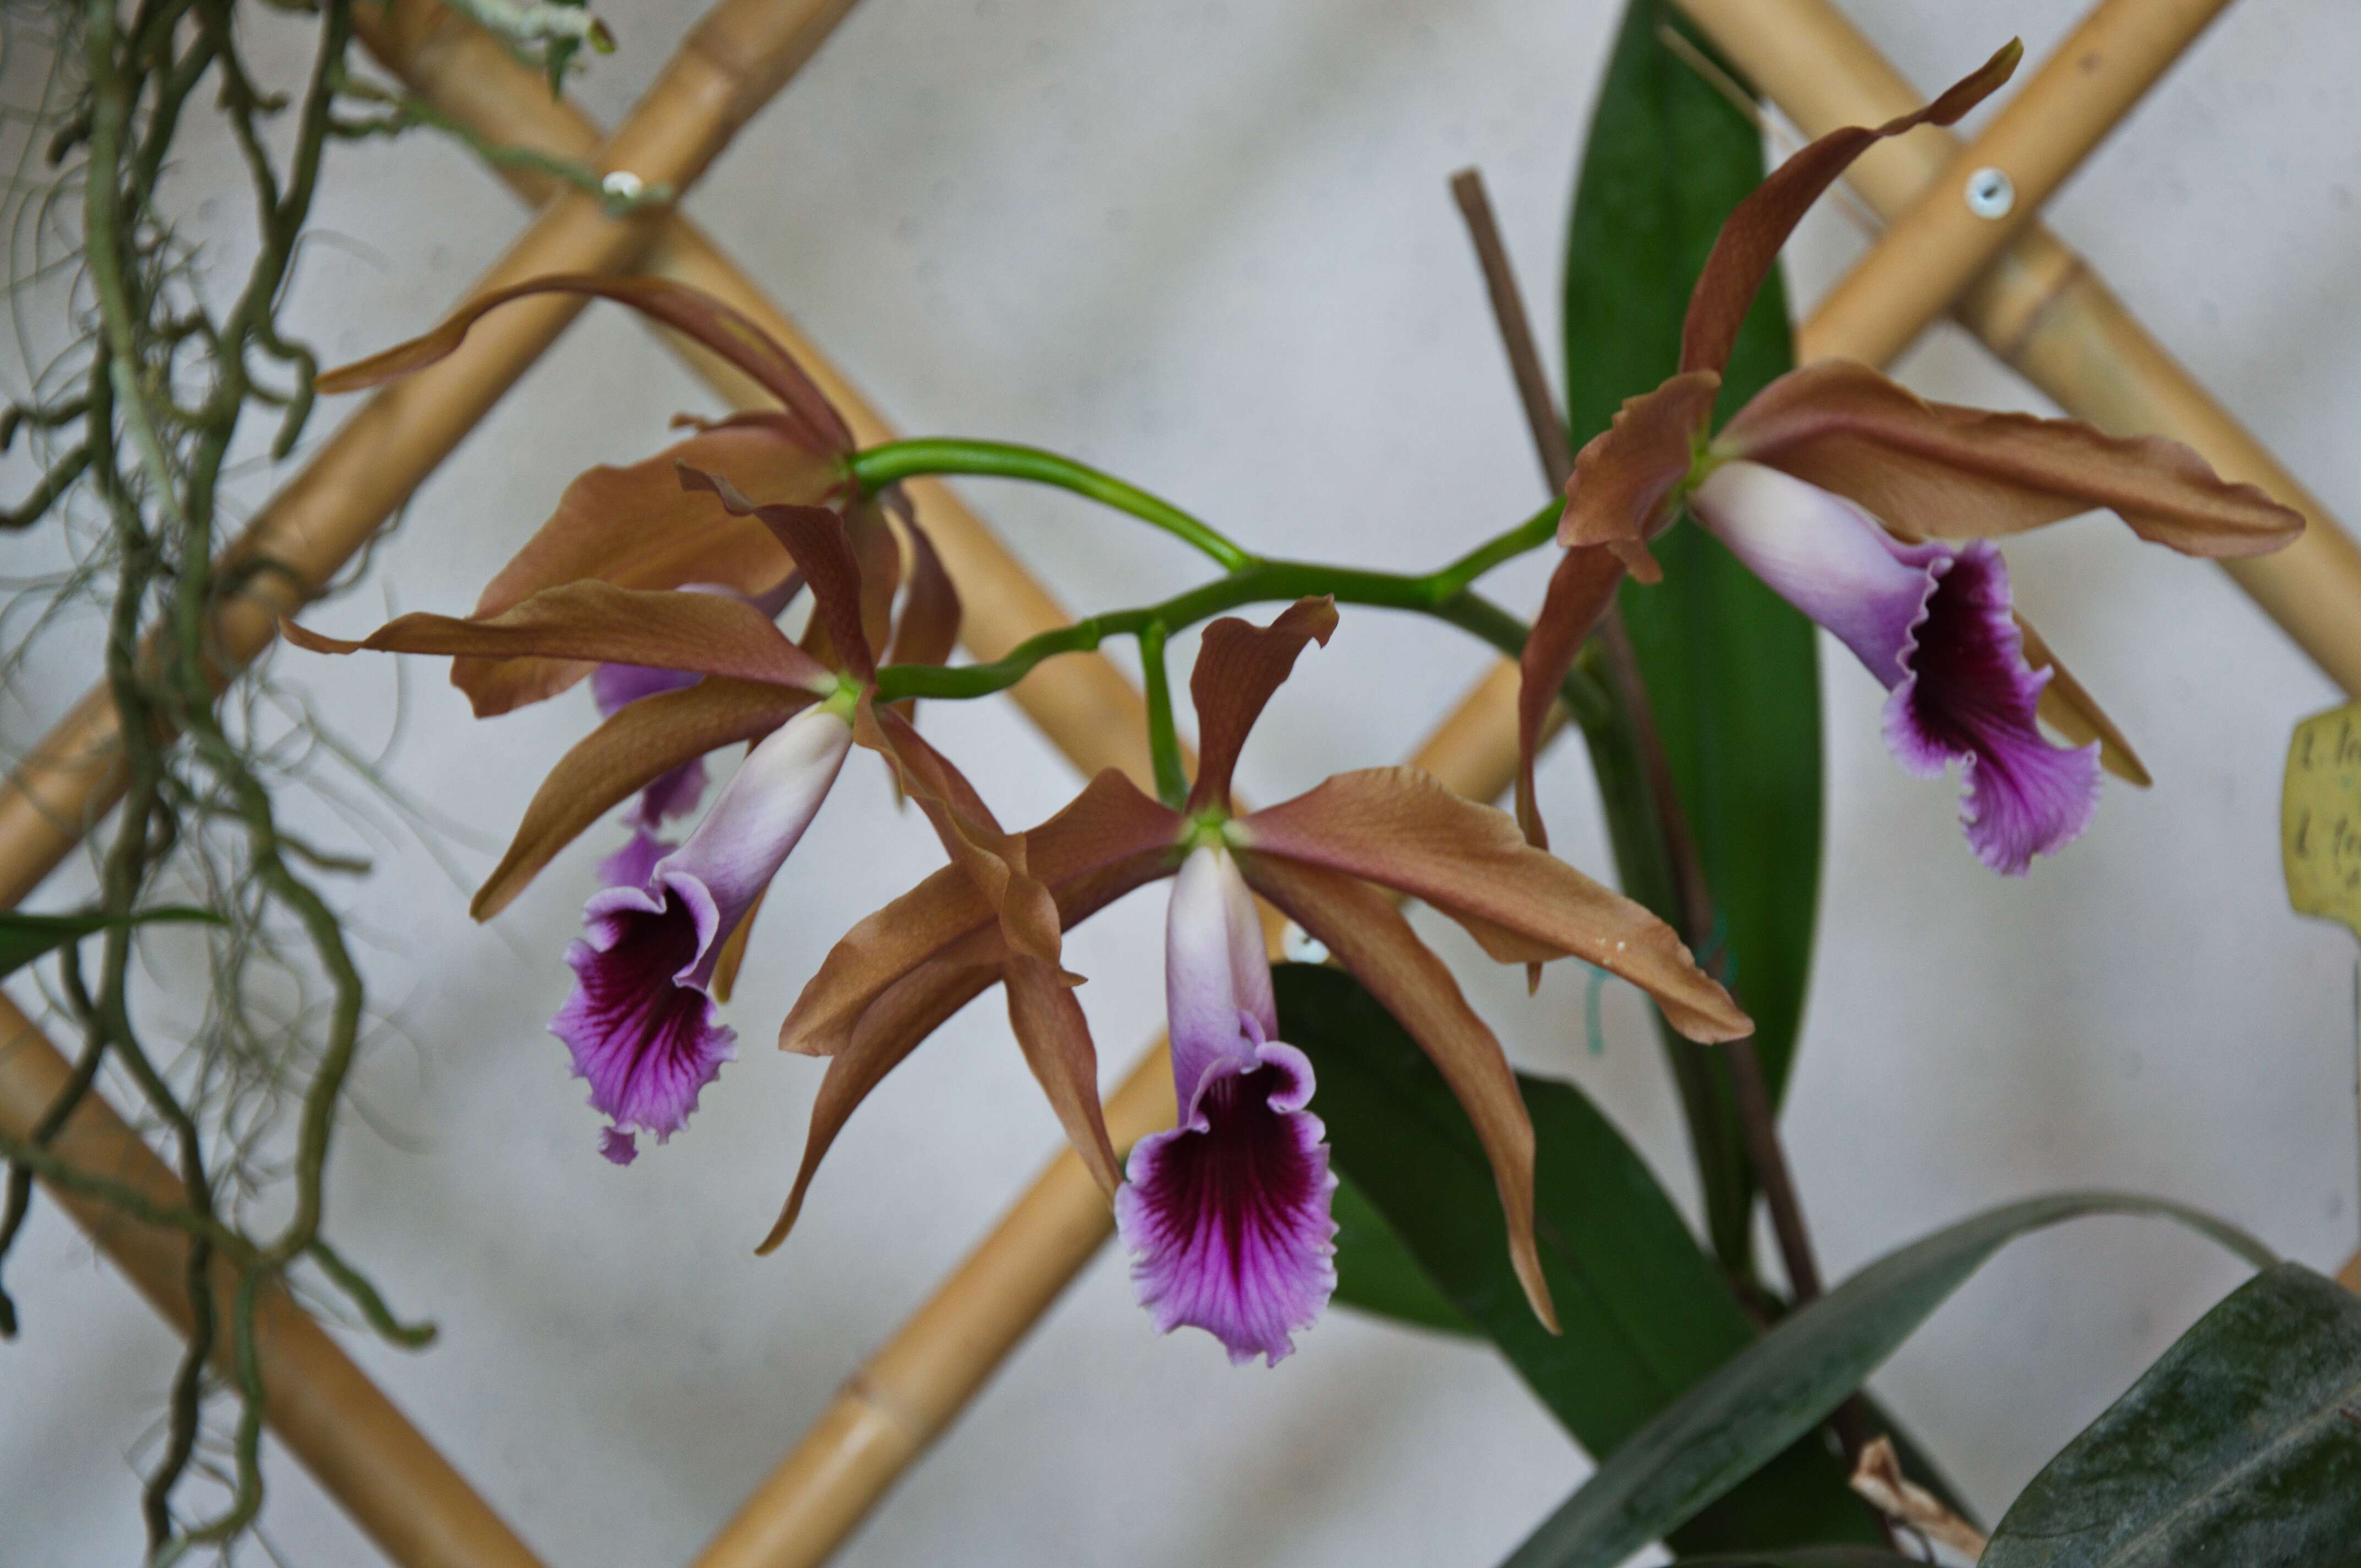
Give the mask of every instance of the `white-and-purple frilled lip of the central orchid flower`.
M 1221 845 L 1173 881 L 1164 989 L 1180 1124 L 1140 1138 L 1114 1195 L 1133 1287 L 1157 1332 L 1202 1327 L 1232 1363 L 1277 1365 L 1336 1289 L 1336 1176 L 1313 1067 L 1270 1039 L 1261 923 Z

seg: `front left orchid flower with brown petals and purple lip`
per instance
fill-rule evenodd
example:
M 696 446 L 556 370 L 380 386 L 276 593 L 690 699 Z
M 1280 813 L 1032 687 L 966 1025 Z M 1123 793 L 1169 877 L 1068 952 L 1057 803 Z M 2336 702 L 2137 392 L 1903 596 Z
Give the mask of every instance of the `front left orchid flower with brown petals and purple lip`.
M 609 888 L 590 897 L 586 937 L 567 952 L 576 989 L 550 1020 L 576 1072 L 590 1082 L 590 1105 L 611 1117 L 609 1159 L 635 1157 L 635 1133 L 668 1138 L 699 1091 L 730 1060 L 732 1032 L 715 1023 L 715 994 L 727 989 L 732 952 L 741 952 L 763 890 L 810 827 L 855 739 L 881 751 L 904 789 L 961 864 L 1001 864 L 989 810 L 966 779 L 909 720 L 876 708 L 876 656 L 864 628 L 862 567 L 836 512 L 815 505 L 756 505 L 727 479 L 680 468 L 678 484 L 713 494 L 730 515 L 756 517 L 803 562 L 812 586 L 812 647 L 798 647 L 765 607 L 718 593 L 616 588 L 581 581 L 543 588 L 486 619 L 401 616 L 361 642 L 288 628 L 319 652 L 392 649 L 453 654 L 501 666 L 595 661 L 687 675 L 694 685 L 642 694 L 569 751 L 527 808 L 508 855 L 477 893 L 489 919 L 590 822 L 635 791 L 732 741 L 756 741 L 704 822 L 678 850 L 630 845 L 640 864 L 609 869 Z M 637 874 L 633 881 L 630 876 Z M 989 878 L 987 878 L 989 881 Z M 1003 874 L 996 907 L 1022 902 L 1022 871 Z M 1046 961 L 1055 959 L 1055 914 L 1039 895 L 1032 923 L 1048 921 Z M 1044 952 L 1032 942 L 1029 952 Z

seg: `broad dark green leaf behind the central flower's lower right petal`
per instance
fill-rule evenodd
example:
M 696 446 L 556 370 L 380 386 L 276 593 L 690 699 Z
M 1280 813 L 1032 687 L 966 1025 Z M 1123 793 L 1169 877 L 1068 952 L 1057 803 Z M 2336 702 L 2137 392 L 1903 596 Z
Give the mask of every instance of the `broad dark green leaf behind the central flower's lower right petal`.
M 1646 1162 L 1570 1084 L 1523 1077 L 1539 1141 L 1542 1273 L 1563 1334 L 1532 1318 L 1509 1268 L 1492 1169 L 1443 1074 L 1350 975 L 1273 971 L 1280 1034 L 1313 1060 L 1336 1169 L 1400 1235 L 1443 1296 L 1492 1339 L 1591 1455 L 1605 1455 L 1754 1341 L 1721 1270 Z M 1339 1259 L 1339 1282 L 1350 1259 Z M 1773 1450 L 1676 1537 L 1690 1551 L 1875 1542 L 1870 1511 L 1816 1438 Z

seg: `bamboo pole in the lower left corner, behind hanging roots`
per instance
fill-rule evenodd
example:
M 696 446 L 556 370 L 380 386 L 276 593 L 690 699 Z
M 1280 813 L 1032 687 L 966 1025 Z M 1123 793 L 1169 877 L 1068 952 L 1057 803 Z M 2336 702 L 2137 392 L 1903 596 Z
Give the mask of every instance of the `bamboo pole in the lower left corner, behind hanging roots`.
M 35 1025 L 0 994 L 0 1129 L 28 1138 L 42 1108 L 66 1089 L 71 1067 Z M 158 1207 L 187 1193 L 137 1131 L 102 1096 L 85 1096 L 50 1150 L 80 1171 L 130 1185 Z M 189 1240 L 144 1226 L 120 1209 L 52 1188 L 57 1200 L 139 1287 L 165 1322 L 189 1332 Z M 220 1313 L 231 1308 L 229 1268 L 215 1268 Z M 434 1452 L 335 1339 L 286 1292 L 269 1292 L 257 1318 L 264 1410 L 272 1431 L 401 1568 L 541 1568 L 541 1559 L 491 1511 L 449 1459 Z

